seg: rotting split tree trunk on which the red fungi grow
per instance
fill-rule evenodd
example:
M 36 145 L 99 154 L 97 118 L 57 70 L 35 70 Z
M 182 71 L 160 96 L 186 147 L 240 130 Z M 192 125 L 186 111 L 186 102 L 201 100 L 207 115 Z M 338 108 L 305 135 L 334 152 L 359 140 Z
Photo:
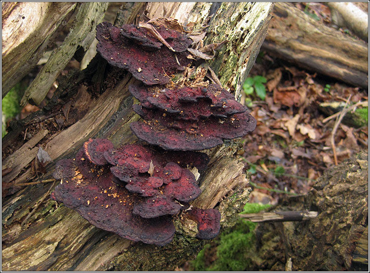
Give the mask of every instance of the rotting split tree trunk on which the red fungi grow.
M 125 3 L 116 22 L 132 23 L 139 10 L 146 9 L 149 17 L 172 16 L 184 25 L 196 23 L 195 29 L 209 24 L 206 44 L 227 38 L 229 43 L 209 65 L 218 73 L 224 87 L 239 97 L 242 82 L 266 35 L 272 3 L 149 2 L 143 5 L 142 2 Z M 94 91 L 95 96 L 82 84 L 87 77 L 91 84 L 89 90 Z M 74 71 L 65 77 L 46 108 L 14 124 L 3 139 L 3 153 L 8 150 L 15 153 L 25 142 L 29 148 L 38 144 L 32 139 L 23 141 L 26 129 L 32 133 L 49 129 L 47 133 L 43 131 L 47 135 L 39 142 L 53 160 L 41 178 L 44 180 L 50 177 L 58 159 L 73 157 L 89 137 L 105 137 L 116 146 L 137 141 L 129 129 L 129 123 L 139 119 L 132 111 L 133 99 L 128 92 L 128 85 L 134 81 L 130 73 L 108 69 L 99 56 L 95 57 L 84 71 Z M 97 97 L 100 92 L 103 93 Z M 68 118 L 63 111 L 69 113 Z M 59 126 L 56 122 L 61 119 L 63 130 L 55 130 Z M 207 151 L 210 162 L 199 180 L 203 193 L 196 199 L 196 205 L 201 208 L 217 205 L 223 228 L 235 223 L 237 212 L 249 194 L 244 164 L 234 156 L 238 147 L 237 142 L 227 141 Z M 27 154 L 27 157 L 31 162 L 36 154 Z M 48 191 L 54 184 L 15 186 L 15 183 L 30 181 L 35 169 L 28 164 L 15 174 L 19 159 L 12 160 L 7 165 L 9 173 L 3 177 L 7 180 L 2 184 L 5 196 L 2 203 L 3 270 L 173 270 L 195 258 L 206 243 L 189 236 L 181 219 L 176 217 L 175 237 L 164 247 L 133 243 L 95 228 L 76 211 L 50 200 Z

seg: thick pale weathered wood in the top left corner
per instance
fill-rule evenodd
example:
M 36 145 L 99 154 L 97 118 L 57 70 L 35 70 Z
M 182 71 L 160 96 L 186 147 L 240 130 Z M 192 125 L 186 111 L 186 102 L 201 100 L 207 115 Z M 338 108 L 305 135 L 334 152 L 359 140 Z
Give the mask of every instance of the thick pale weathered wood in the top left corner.
M 1 2 L 1 98 L 36 66 L 74 2 Z

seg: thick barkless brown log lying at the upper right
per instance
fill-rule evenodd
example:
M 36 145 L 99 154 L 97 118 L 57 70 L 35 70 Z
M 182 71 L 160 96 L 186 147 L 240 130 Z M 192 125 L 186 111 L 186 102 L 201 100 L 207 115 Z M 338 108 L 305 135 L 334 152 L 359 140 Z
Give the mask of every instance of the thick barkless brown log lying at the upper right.
M 284 60 L 367 89 L 369 45 L 277 2 L 263 50 Z

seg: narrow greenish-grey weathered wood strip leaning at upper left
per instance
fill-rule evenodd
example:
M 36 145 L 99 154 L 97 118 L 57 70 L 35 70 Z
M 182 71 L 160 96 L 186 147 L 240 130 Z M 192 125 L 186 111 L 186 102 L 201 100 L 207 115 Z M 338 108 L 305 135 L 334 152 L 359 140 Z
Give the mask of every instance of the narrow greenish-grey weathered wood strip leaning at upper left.
M 21 105 L 31 100 L 40 105 L 59 73 L 68 64 L 79 46 L 87 50 L 95 38 L 96 25 L 101 23 L 108 2 L 84 2 L 79 7 L 74 26 L 63 44 L 53 51 L 46 64 L 24 92 Z

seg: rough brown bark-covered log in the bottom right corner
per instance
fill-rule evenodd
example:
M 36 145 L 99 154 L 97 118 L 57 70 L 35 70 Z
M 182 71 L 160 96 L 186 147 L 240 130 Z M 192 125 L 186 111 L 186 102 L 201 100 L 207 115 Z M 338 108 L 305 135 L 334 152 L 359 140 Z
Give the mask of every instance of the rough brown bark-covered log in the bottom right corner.
M 368 152 L 360 152 L 325 172 L 307 195 L 279 202 L 274 211 L 316 210 L 318 216 L 259 224 L 258 244 L 247 252 L 249 270 L 284 271 L 291 258 L 293 271 L 366 271 L 368 160 Z

